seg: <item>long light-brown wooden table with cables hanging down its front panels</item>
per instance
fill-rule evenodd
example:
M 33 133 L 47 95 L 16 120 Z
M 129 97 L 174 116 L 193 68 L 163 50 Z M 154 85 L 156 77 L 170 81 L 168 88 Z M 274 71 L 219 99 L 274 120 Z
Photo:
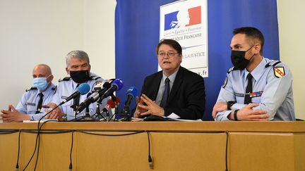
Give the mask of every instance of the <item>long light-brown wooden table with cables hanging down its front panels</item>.
M 24 169 L 35 130 L 37 123 L 0 123 L 8 133 L 0 134 L 0 170 L 16 166 L 19 131 Z M 36 170 L 68 170 L 72 135 L 73 170 L 151 170 L 150 146 L 153 170 L 223 171 L 227 138 L 229 170 L 305 170 L 305 122 L 47 122 L 42 130 Z

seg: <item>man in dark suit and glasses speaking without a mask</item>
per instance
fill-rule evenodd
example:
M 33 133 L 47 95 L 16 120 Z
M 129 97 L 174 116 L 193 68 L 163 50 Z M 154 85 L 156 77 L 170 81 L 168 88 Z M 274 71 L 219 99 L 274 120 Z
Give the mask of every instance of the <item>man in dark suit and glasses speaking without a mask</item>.
M 173 119 L 201 119 L 205 110 L 203 77 L 180 66 L 182 49 L 177 41 L 163 39 L 156 51 L 162 71 L 145 78 L 135 117 L 152 114 Z

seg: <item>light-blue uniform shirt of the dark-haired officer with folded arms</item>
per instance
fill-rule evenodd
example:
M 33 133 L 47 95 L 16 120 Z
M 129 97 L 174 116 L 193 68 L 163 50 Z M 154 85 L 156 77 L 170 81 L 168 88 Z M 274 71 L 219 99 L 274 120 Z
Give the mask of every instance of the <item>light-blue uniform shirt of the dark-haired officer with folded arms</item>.
M 248 70 L 231 68 L 220 89 L 217 102 L 236 101 L 232 110 L 244 108 L 244 95 L 247 86 Z M 280 61 L 263 58 L 251 72 L 253 91 L 251 103 L 258 103 L 253 110 L 266 110 L 268 120 L 295 120 L 292 92 L 292 73 L 287 65 Z M 229 120 L 232 110 L 225 110 L 216 115 L 215 120 Z

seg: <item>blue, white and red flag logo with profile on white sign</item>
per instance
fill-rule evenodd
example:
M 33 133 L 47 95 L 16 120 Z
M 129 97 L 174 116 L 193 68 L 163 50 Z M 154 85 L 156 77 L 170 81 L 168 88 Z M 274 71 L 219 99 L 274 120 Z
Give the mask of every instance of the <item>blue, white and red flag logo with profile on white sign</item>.
M 165 31 L 201 23 L 201 6 L 165 14 Z

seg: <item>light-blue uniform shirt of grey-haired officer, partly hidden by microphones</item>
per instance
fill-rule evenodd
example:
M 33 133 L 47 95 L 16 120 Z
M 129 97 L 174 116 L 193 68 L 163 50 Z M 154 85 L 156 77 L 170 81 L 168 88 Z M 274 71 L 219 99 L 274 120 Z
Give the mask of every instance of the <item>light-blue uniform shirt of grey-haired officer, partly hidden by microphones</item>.
M 90 91 L 93 91 L 95 84 L 97 81 L 103 81 L 103 79 L 94 73 L 90 72 L 90 80 L 88 80 L 88 84 L 90 85 Z M 64 101 L 68 96 L 73 94 L 76 91 L 77 87 L 76 82 L 74 82 L 71 77 L 65 77 L 63 80 L 59 80 L 59 83 L 57 85 L 56 93 L 54 94 L 54 101 L 53 103 L 56 103 L 57 105 L 61 103 L 61 101 Z M 87 94 L 80 95 L 80 103 L 85 101 L 87 99 Z M 104 108 L 104 106 L 107 105 L 107 100 L 104 99 L 102 101 L 102 104 L 100 108 Z M 90 115 L 93 115 L 96 113 L 96 104 L 97 103 L 91 103 L 89 106 L 89 113 Z M 67 101 L 63 105 L 59 106 L 62 113 L 66 113 L 67 120 L 73 120 L 75 118 L 73 108 L 71 106 L 73 105 L 73 100 Z M 81 117 L 85 114 L 85 110 L 83 110 L 81 113 L 77 115 L 77 117 Z

